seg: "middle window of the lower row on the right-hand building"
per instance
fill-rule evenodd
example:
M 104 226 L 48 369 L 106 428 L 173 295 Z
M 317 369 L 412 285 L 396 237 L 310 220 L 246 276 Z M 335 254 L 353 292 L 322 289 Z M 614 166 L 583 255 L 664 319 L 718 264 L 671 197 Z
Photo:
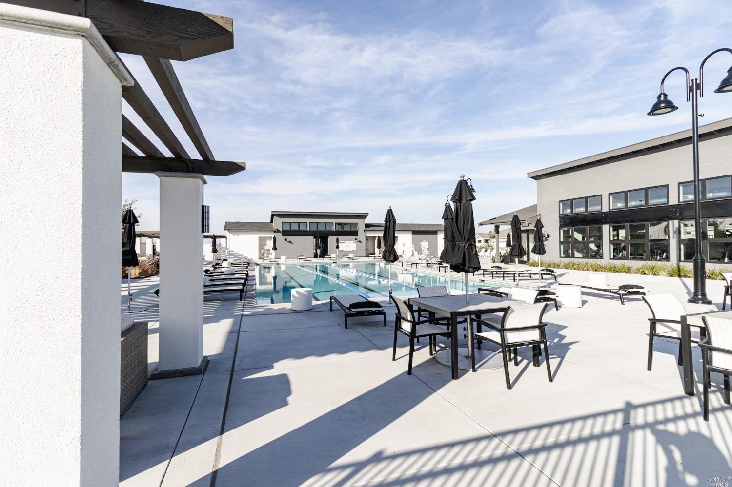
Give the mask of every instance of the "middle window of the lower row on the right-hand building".
M 668 262 L 668 222 L 610 225 L 610 258 Z

